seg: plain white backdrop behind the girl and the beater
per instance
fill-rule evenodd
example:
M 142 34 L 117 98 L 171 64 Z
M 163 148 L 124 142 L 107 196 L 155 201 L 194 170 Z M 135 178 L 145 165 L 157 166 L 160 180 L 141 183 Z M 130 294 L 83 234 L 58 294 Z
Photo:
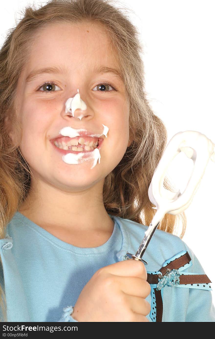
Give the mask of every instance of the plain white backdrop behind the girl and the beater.
M 6 1 L 0 5 L 0 45 L 15 26 L 19 11 L 33 1 Z M 34 1 L 35 4 L 46 2 Z M 167 142 L 180 131 L 205 134 L 215 143 L 214 1 L 124 0 L 144 44 L 146 92 L 166 125 Z M 184 190 L 193 161 L 180 153 L 169 167 L 169 178 Z M 191 205 L 185 211 L 183 241 L 193 250 L 205 273 L 215 281 L 214 192 L 215 163 L 209 161 Z M 141 242 L 142 239 L 140 239 Z M 168 259 L 168 258 L 167 258 Z M 213 302 L 215 303 L 215 284 Z

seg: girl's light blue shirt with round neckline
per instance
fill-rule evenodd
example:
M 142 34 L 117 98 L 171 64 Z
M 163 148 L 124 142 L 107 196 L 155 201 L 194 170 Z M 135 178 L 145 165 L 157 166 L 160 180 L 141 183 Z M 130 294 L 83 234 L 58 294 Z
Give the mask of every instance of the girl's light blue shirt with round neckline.
M 108 241 L 98 247 L 82 248 L 58 239 L 18 211 L 14 214 L 7 225 L 6 237 L 0 239 L 7 321 L 75 321 L 72 317 L 63 320 L 63 309 L 75 305 L 97 270 L 124 260 L 127 252 L 135 254 L 148 228 L 129 219 L 109 216 L 114 229 Z M 147 272 L 160 272 L 165 262 L 186 251 L 191 262 L 180 273 L 205 274 L 196 256 L 179 237 L 156 230 L 143 258 L 148 262 Z M 209 286 L 164 286 L 162 322 L 215 321 Z M 152 307 L 147 315 L 149 321 L 156 321 L 155 287 L 151 285 L 151 294 L 146 298 Z

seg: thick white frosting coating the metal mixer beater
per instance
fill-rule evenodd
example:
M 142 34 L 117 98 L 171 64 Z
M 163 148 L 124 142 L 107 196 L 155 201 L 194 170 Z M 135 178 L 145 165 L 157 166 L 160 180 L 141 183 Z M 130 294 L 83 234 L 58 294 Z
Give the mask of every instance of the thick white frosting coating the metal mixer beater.
M 157 210 L 151 221 L 153 226 L 157 225 L 166 213 L 176 215 L 182 213 L 190 205 L 209 159 L 215 162 L 214 147 L 215 144 L 210 139 L 196 131 L 178 132 L 169 141 L 148 188 L 149 200 L 156 205 L 153 208 Z M 180 190 L 174 193 L 163 187 L 166 170 L 180 152 L 184 152 L 194 162 L 193 172 L 183 194 Z M 148 228 L 146 235 L 150 233 L 150 229 L 151 227 Z

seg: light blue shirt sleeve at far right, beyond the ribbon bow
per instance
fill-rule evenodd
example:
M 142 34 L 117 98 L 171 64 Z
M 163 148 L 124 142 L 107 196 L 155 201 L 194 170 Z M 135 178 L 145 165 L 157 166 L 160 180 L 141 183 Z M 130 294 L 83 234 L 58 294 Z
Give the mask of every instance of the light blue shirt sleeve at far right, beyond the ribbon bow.
M 185 243 L 184 243 L 185 244 Z M 205 274 L 199 260 L 193 251 L 185 244 L 193 265 L 189 271 L 193 274 Z M 210 276 L 209 276 L 210 279 Z M 186 322 L 214 322 L 215 308 L 212 303 L 211 291 L 189 288 L 189 304 L 186 312 Z

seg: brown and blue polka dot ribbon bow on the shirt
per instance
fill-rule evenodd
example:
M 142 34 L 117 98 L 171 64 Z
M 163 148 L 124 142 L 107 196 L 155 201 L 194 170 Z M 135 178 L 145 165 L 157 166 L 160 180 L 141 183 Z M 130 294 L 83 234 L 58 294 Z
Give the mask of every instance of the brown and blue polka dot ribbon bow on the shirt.
M 180 256 L 181 254 L 181 256 Z M 171 270 L 179 270 L 180 271 L 180 281 L 178 285 L 174 285 L 176 287 L 187 287 L 187 288 L 198 288 L 201 290 L 211 290 L 211 280 L 208 278 L 206 274 L 181 274 L 181 271 L 185 270 L 185 268 L 191 266 L 191 257 L 188 252 L 181 252 L 177 258 L 171 258 L 166 262 L 166 264 L 161 267 L 158 273 L 148 273 L 147 274 L 147 282 L 151 285 L 151 312 L 150 318 L 152 321 L 162 322 L 163 316 L 163 298 L 162 290 L 157 290 L 156 286 L 161 278 L 167 275 Z M 188 265 L 190 264 L 190 265 Z M 184 268 L 183 268 L 184 267 Z M 182 268 L 182 269 L 181 269 Z M 165 287 L 165 286 L 164 286 Z

